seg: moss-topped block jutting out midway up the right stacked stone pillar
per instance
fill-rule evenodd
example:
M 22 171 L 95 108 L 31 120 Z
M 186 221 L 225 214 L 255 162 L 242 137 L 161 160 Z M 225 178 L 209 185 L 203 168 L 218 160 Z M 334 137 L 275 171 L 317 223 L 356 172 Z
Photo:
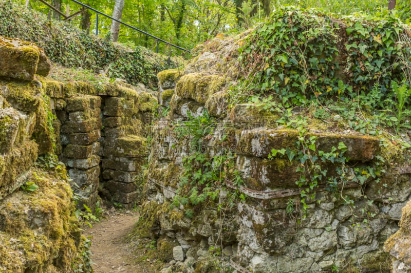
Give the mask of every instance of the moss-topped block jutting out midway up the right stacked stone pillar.
M 105 143 L 106 144 L 106 143 Z M 129 135 L 116 139 L 114 145 L 105 145 L 105 157 L 144 157 L 147 155 L 147 139 L 142 136 Z

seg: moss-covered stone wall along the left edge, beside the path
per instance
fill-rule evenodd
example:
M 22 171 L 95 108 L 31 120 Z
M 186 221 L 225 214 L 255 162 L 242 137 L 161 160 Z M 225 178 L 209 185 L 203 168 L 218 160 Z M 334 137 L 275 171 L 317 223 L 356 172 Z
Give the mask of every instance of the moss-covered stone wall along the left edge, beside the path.
M 65 102 L 33 80 L 49 69 L 38 47 L 0 37 L 0 271 L 6 273 L 72 272 L 84 264 L 66 169 L 53 154 L 52 128 L 59 123 L 51 116 Z

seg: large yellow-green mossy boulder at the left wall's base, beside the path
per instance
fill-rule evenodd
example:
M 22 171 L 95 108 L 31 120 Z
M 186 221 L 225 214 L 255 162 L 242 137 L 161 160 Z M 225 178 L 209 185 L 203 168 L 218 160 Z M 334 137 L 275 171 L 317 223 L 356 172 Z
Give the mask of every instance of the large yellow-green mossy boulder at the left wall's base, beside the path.
M 16 192 L 0 202 L 2 272 L 72 272 L 78 259 L 79 223 L 71 189 L 55 174 L 32 169 L 34 192 Z

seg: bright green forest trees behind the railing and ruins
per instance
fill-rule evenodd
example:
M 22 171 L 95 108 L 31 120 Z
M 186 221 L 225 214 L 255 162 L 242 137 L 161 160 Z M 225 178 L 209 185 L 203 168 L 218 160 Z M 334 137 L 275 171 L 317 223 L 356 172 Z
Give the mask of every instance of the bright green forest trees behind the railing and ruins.
M 49 17 L 62 19 L 38 0 L 13 0 L 28 9 L 48 13 Z M 50 1 L 50 0 L 49 0 Z M 121 19 L 172 44 L 191 50 L 218 33 L 235 34 L 263 22 L 273 9 L 281 5 L 317 8 L 324 13 L 354 15 L 357 12 L 369 16 L 384 16 L 388 7 L 403 22 L 411 22 L 410 0 L 83 0 L 82 3 L 103 13 Z M 83 10 L 70 0 L 49 2 L 69 15 Z M 84 9 L 72 19 L 73 24 L 88 33 L 96 33 L 96 13 Z M 99 16 L 99 35 L 119 41 L 130 47 L 144 46 L 156 50 L 157 40 L 138 31 L 111 25 L 111 19 Z M 159 52 L 165 55 L 181 55 L 184 52 L 164 43 Z

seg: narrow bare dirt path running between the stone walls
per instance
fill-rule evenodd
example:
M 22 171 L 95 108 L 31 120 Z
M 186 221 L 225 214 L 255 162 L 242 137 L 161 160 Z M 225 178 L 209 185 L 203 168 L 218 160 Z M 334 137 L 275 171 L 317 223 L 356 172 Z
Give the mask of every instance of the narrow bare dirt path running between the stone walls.
M 86 228 L 84 236 L 91 235 L 92 261 L 95 273 L 143 272 L 132 263 L 133 256 L 127 249 L 127 234 L 138 220 L 135 213 L 110 212 L 92 228 Z

